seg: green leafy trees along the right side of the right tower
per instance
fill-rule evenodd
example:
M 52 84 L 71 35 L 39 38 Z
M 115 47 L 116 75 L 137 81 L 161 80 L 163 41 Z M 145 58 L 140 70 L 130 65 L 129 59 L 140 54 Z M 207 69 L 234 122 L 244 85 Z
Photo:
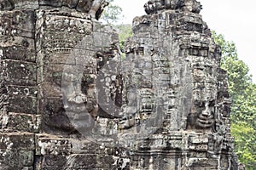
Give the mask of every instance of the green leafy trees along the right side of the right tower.
M 249 75 L 248 66 L 238 58 L 234 42 L 212 31 L 214 41 L 222 48 L 221 66 L 228 74 L 229 92 L 232 99 L 231 133 L 235 137 L 239 160 L 253 170 L 256 167 L 256 85 Z

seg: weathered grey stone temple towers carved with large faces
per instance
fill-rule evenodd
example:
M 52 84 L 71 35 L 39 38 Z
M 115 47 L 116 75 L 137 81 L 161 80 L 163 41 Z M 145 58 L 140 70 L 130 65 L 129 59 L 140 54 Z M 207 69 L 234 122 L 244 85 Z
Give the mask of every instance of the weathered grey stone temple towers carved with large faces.
M 107 5 L 0 1 L 0 169 L 242 169 L 201 4 L 148 1 L 123 60 Z

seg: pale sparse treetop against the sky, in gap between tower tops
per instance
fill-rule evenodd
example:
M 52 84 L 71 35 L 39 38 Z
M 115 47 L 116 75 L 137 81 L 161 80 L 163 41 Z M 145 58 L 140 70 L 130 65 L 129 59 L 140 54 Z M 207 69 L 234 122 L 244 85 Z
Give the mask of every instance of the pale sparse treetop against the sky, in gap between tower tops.
M 123 17 L 123 15 L 121 15 L 123 9 L 118 5 L 115 5 L 113 0 L 108 0 L 108 3 L 108 7 L 104 8 L 101 20 L 103 22 L 107 22 L 108 25 L 115 24 Z

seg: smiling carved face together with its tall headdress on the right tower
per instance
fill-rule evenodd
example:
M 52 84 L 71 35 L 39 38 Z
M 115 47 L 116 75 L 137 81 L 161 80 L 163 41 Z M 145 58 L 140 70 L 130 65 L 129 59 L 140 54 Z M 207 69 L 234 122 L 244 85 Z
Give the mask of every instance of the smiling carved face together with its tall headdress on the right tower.
M 207 62 L 207 59 L 204 62 Z M 214 63 L 211 61 L 211 66 L 204 65 L 193 70 L 194 88 L 188 116 L 188 128 L 210 129 L 215 123 L 218 86 L 213 65 Z

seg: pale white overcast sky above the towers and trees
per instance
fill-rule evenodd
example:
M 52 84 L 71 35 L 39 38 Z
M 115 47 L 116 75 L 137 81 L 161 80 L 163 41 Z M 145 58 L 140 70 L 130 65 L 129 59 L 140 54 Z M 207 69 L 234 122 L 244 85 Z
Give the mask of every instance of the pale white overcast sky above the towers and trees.
M 255 0 L 198 0 L 201 15 L 211 30 L 224 35 L 236 44 L 238 57 L 250 68 L 256 83 L 256 1 Z M 123 8 L 121 23 L 131 24 L 135 16 L 145 14 L 143 5 L 148 0 L 114 0 Z

